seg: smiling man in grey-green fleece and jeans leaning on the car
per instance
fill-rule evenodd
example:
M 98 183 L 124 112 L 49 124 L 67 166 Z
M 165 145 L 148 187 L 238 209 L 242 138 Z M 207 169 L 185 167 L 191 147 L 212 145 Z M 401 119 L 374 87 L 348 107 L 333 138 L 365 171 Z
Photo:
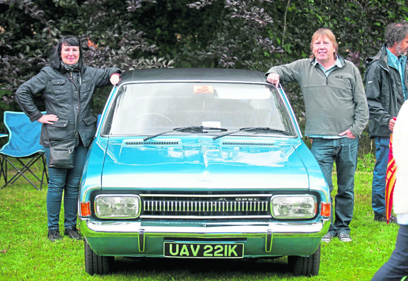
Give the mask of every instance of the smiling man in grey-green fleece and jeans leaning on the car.
M 298 82 L 305 101 L 306 130 L 311 151 L 319 162 L 330 191 L 336 161 L 338 192 L 333 219 L 323 242 L 337 236 L 352 241 L 350 222 L 354 209 L 354 174 L 359 137 L 369 119 L 364 85 L 357 67 L 337 54 L 338 44 L 330 29 L 320 28 L 312 36 L 312 54 L 289 64 L 271 67 L 268 82 Z

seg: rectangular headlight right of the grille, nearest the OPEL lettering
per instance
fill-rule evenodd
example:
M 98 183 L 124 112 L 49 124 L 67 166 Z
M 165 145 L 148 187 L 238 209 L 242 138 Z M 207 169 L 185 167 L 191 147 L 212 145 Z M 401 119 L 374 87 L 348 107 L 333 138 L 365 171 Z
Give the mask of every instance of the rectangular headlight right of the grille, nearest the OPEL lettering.
M 271 213 L 277 219 L 308 219 L 317 212 L 313 195 L 275 195 L 271 198 Z

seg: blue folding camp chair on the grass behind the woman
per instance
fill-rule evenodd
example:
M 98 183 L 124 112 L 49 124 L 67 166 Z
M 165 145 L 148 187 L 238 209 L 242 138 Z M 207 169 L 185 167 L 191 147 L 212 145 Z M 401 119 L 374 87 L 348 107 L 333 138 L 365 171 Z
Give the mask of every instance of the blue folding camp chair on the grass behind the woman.
M 22 112 L 11 111 L 4 112 L 3 122 L 8 131 L 8 141 L 0 149 L 0 177 L 2 175 L 4 179 L 4 185 L 1 189 L 8 184 L 12 184 L 17 178 L 22 176 L 36 189 L 41 190 L 44 175 L 48 182 L 44 147 L 39 144 L 41 123 L 31 122 Z M 11 161 L 12 158 L 15 158 L 16 161 Z M 41 178 L 31 170 L 32 165 L 37 160 L 41 161 Z M 9 165 L 17 172 L 10 179 L 7 179 L 7 168 Z M 18 167 L 20 165 L 22 167 Z M 31 173 L 35 178 L 31 177 L 33 180 L 29 179 L 24 174 L 26 172 Z M 33 183 L 35 179 L 40 183 L 39 188 Z

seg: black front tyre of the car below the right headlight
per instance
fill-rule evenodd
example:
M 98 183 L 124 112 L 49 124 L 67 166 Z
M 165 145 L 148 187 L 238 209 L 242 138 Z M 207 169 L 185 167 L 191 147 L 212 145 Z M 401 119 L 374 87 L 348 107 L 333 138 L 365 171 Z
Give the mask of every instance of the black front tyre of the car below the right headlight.
M 288 265 L 295 276 L 315 276 L 319 274 L 320 245 L 309 257 L 288 256 Z

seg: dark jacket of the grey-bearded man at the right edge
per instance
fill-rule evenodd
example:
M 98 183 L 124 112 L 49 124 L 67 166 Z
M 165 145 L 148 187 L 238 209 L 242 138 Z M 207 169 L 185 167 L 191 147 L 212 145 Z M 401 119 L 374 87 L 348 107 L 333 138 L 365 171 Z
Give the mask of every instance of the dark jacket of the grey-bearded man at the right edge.
M 366 59 L 366 67 L 364 82 L 370 112 L 370 138 L 390 137 L 390 120 L 398 115 L 404 103 L 400 73 L 398 69 L 388 66 L 386 45 L 377 55 Z M 405 81 L 408 81 L 407 64 Z

